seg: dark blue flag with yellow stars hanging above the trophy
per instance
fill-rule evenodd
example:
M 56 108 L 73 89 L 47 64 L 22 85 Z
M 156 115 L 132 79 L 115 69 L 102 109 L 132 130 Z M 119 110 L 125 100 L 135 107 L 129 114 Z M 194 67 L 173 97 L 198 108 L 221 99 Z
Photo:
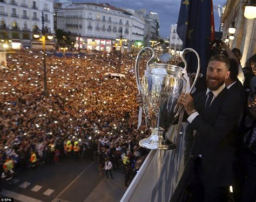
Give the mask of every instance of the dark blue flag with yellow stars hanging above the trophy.
M 177 33 L 184 48 L 193 48 L 200 56 L 201 73 L 206 75 L 210 59 L 210 40 L 214 36 L 212 0 L 181 0 Z M 197 58 L 187 53 L 188 72 L 197 71 Z

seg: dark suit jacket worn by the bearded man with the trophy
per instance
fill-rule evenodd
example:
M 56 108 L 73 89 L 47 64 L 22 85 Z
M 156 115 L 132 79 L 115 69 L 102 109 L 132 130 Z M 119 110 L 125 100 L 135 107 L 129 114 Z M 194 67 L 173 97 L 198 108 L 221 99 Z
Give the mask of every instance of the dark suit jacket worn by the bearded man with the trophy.
M 233 181 L 233 161 L 238 120 L 241 117 L 241 99 L 231 96 L 224 88 L 205 109 L 206 92 L 194 97 L 194 106 L 199 115 L 190 124 L 197 130 L 193 155 L 201 154 L 203 181 L 212 186 L 227 186 Z

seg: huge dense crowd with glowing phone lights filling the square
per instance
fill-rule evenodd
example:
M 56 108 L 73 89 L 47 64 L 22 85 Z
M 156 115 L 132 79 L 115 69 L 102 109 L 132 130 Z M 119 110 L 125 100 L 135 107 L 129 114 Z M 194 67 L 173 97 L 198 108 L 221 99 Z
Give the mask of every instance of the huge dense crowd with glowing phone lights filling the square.
M 98 158 L 99 170 L 108 159 L 113 168 L 125 164 L 130 171 L 133 162 L 147 154 L 138 145 L 149 133 L 145 124 L 137 130 L 133 55 L 49 54 L 49 96 L 43 96 L 42 51 L 24 49 L 7 58 L 1 68 L 2 172 L 58 164 L 62 156 Z M 105 75 L 119 68 L 125 78 Z

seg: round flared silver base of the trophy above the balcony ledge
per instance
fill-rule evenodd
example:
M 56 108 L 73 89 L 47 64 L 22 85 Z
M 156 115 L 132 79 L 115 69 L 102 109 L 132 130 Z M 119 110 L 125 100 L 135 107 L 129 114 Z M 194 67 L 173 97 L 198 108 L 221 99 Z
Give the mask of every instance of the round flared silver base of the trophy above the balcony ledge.
M 139 141 L 139 145 L 146 149 L 172 150 L 176 145 L 166 138 L 165 132 L 152 134 L 150 137 Z

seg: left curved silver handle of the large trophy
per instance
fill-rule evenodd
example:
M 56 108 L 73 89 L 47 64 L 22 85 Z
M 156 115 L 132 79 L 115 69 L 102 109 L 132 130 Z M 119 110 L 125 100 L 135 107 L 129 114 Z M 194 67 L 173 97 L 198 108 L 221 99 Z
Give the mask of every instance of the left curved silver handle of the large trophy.
M 151 51 L 152 52 L 152 56 L 149 60 L 147 60 L 147 68 L 149 67 L 149 64 L 154 60 L 154 58 L 156 57 L 156 52 L 154 52 L 153 48 L 151 47 L 144 47 L 142 48 L 138 55 L 137 55 L 137 58 L 136 58 L 136 62 L 135 62 L 135 77 L 136 77 L 136 82 L 137 82 L 137 87 L 138 87 L 138 91 L 139 91 L 139 94 L 142 94 L 142 87 L 140 85 L 140 81 L 139 81 L 139 61 L 140 61 L 140 58 L 142 57 L 142 53 L 144 51 Z

